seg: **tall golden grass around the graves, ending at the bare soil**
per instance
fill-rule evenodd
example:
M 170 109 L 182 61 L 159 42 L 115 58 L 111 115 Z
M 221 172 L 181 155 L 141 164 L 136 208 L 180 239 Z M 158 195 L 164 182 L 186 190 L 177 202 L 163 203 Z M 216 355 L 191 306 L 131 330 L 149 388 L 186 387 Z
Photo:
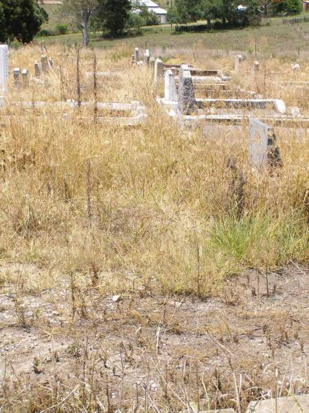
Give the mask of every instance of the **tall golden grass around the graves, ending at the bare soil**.
M 38 47 L 11 52 L 10 67 L 31 70 L 40 54 Z M 11 79 L 8 100 L 76 98 L 76 50 L 53 47 L 49 54 L 61 67 L 63 89 L 54 70 L 45 85 L 30 81 L 25 90 L 14 89 Z M 245 268 L 308 260 L 306 129 L 277 129 L 283 167 L 253 173 L 247 125 L 211 134 L 181 129 L 157 107 L 151 71 L 130 67 L 130 54 L 125 47 L 97 52 L 98 70 L 117 72 L 98 78 L 98 100 L 140 100 L 148 110 L 141 127 L 93 123 L 91 107 L 83 109 L 89 120 L 73 112 L 63 120 L 52 107 L 5 109 L 11 116 L 1 120 L 3 262 L 36 262 L 63 277 L 78 273 L 80 282 L 95 273 L 102 290 L 125 291 L 134 277 L 146 286 L 156 279 L 165 292 L 205 297 Z M 92 56 L 81 53 L 82 100 L 94 99 L 93 79 L 85 75 Z M 308 96 L 275 83 L 303 79 L 308 62 L 294 73 L 290 62 L 265 59 L 253 76 L 250 59 L 234 87 L 284 98 L 308 113 Z M 226 57 L 198 63 L 223 71 L 233 65 Z

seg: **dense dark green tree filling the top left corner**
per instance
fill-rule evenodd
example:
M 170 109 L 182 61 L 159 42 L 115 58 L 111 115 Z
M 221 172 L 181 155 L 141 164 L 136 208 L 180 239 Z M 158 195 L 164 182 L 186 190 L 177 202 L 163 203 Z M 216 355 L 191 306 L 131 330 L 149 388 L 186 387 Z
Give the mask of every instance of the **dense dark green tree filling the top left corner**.
M 36 0 L 0 0 L 0 41 L 30 43 L 47 19 Z

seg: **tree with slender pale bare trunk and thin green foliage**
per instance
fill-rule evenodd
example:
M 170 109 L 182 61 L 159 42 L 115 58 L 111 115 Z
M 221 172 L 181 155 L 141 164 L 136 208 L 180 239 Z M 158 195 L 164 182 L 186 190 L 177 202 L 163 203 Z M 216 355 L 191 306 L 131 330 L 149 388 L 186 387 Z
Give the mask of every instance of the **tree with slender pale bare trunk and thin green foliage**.
M 98 0 L 63 0 L 60 14 L 82 29 L 82 45 L 89 44 L 89 21 L 98 8 Z

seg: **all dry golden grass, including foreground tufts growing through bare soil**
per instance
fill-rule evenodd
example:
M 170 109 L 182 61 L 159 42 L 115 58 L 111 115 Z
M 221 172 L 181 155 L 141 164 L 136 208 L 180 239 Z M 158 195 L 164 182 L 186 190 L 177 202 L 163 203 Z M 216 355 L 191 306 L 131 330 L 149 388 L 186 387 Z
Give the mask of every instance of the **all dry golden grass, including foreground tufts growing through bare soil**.
M 175 60 L 189 59 L 176 53 L 174 51 Z M 22 48 L 12 52 L 10 66 L 31 70 L 32 62 L 40 54 L 39 48 Z M 54 57 L 55 66 L 62 68 L 62 90 L 60 71 L 55 70 L 45 77 L 45 86 L 31 81 L 29 89 L 17 91 L 10 85 L 9 100 L 53 102 L 61 97 L 76 98 L 76 50 L 55 46 L 49 54 Z M 139 100 L 148 109 L 145 125 L 130 129 L 116 123 L 94 123 L 93 108 L 84 109 L 89 116 L 87 121 L 74 114 L 70 120 L 63 120 L 62 114 L 51 107 L 45 108 L 40 116 L 36 109 L 6 109 L 6 114 L 14 116 L 1 118 L 1 260 L 3 268 L 9 263 L 38 268 L 27 277 L 9 269 L 3 272 L 1 283 L 3 288 L 8 288 L 6 293 L 12 294 L 14 290 L 16 317 L 23 328 L 28 322 L 36 328 L 40 324 L 33 319 L 27 321 L 23 295 L 31 292 L 40 295 L 49 288 L 60 291 L 65 285 L 69 324 L 61 334 L 63 337 L 67 331 L 67 337 L 74 337 L 78 342 L 76 347 L 70 345 L 71 357 L 76 360 L 73 379 L 58 379 L 55 373 L 47 380 L 45 390 L 41 388 L 36 395 L 33 405 L 29 398 L 35 390 L 27 387 L 23 379 L 14 384 L 3 381 L 3 412 L 112 412 L 116 407 L 137 412 L 141 408 L 147 411 L 148 406 L 156 412 L 176 412 L 186 406 L 190 410 L 189 401 L 199 403 L 200 400 L 186 394 L 189 380 L 186 363 L 191 356 L 171 368 L 180 375 L 168 381 L 179 380 L 179 388 L 173 388 L 170 393 L 166 380 L 169 374 L 176 373 L 161 370 L 158 394 L 163 392 L 165 401 L 157 407 L 159 402 L 149 399 L 150 372 L 161 366 L 156 359 L 156 334 L 160 334 L 157 330 L 155 336 L 148 337 L 150 333 L 142 328 L 139 337 L 140 346 L 150 346 L 153 355 L 152 359 L 145 356 L 141 363 L 146 369 L 144 382 L 139 383 L 146 389 L 144 394 L 139 394 L 139 388 L 133 396 L 132 383 L 131 388 L 123 384 L 122 359 L 117 359 L 112 380 L 118 377 L 117 385 L 122 390 L 114 403 L 109 379 L 106 379 L 108 374 L 95 367 L 98 359 L 102 361 L 105 349 L 98 344 L 95 351 L 90 351 L 95 339 L 82 341 L 88 334 L 87 324 L 78 331 L 79 337 L 72 326 L 80 326 L 82 319 L 93 320 L 90 308 L 109 294 L 134 297 L 138 290 L 141 297 L 176 293 L 205 298 L 220 295 L 227 278 L 242 274 L 247 268 L 268 273 L 279 271 L 288 262 L 308 262 L 307 131 L 277 129 L 283 167 L 273 173 L 253 173 L 247 156 L 247 125 L 233 131 L 221 128 L 211 136 L 205 136 L 202 128 L 180 129 L 157 107 L 158 91 L 152 85 L 150 70 L 131 68 L 130 54 L 131 50 L 126 47 L 97 52 L 98 70 L 119 72 L 119 76 L 98 79 L 98 100 Z M 207 56 L 205 52 L 198 56 L 200 67 L 229 72 L 233 66 L 227 57 Z M 308 61 L 300 62 L 302 71 L 294 73 L 289 61 L 267 59 L 261 62 L 260 74 L 253 78 L 249 59 L 244 63 L 242 76 L 233 79 L 234 86 L 255 89 L 265 98 L 284 98 L 288 106 L 299 106 L 304 114 L 308 113 L 308 91 L 295 93 L 295 89 L 276 83 L 278 79 L 290 78 L 308 81 L 305 75 Z M 92 52 L 83 51 L 82 100 L 93 101 L 92 78 L 84 75 L 91 70 Z M 236 159 L 236 172 L 227 167 L 231 158 Z M 243 185 L 239 182 L 240 173 Z M 240 187 L 241 193 L 237 190 Z M 148 325 L 150 321 L 141 315 L 138 304 L 130 304 L 128 298 L 127 306 L 126 323 L 135 320 L 133 326 Z M 160 319 L 161 316 L 155 321 L 157 328 L 162 323 Z M 93 323 L 98 328 L 98 320 Z M 216 331 L 223 336 L 230 335 L 227 324 L 220 323 Z M 178 331 L 179 324 L 175 321 L 173 332 Z M 108 347 L 108 340 L 104 346 Z M 119 346 L 121 349 L 122 344 Z M 222 350 L 224 339 L 216 346 Z M 76 351 L 80 352 L 78 357 Z M 130 364 L 128 351 L 118 354 Z M 208 384 L 205 385 L 206 379 L 202 380 L 200 372 L 205 363 L 198 364 L 201 354 L 194 360 L 197 364 L 190 367 L 190 374 L 196 377 L 194 383 L 199 387 L 196 390 L 194 385 L 190 392 L 203 393 L 204 407 L 207 403 L 212 407 L 228 405 L 225 401 L 219 403 L 219 393 L 225 393 L 220 374 L 225 376 L 227 370 L 215 372 L 215 381 L 214 376 L 208 378 L 207 383 L 211 382 L 212 387 L 207 402 Z M 269 374 L 275 374 L 275 362 L 271 363 L 273 370 Z M 39 372 L 40 368 L 36 367 Z M 226 368 L 231 374 L 229 377 L 235 376 L 232 363 Z M 102 389 L 98 390 L 100 380 L 104 381 L 104 397 Z M 246 383 L 248 394 L 242 394 L 241 406 L 236 397 L 242 392 L 240 384 L 236 395 L 235 387 L 227 389 L 234 392 L 234 396 L 230 393 L 227 396 L 229 401 L 236 397 L 229 405 L 239 410 L 247 400 L 260 394 L 258 381 L 252 385 L 254 390 L 249 390 L 250 380 Z M 18 395 L 16 403 L 11 400 L 11 384 Z M 238 387 L 236 385 L 236 389 Z M 27 403 L 21 402 L 23 394 L 27 394 Z

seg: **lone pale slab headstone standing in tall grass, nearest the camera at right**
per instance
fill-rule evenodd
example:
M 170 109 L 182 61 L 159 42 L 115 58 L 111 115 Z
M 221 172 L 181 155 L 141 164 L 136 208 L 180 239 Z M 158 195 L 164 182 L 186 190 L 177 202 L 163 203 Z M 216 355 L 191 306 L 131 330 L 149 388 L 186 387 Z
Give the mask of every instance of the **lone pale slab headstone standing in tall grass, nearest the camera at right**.
M 253 169 L 282 165 L 273 128 L 255 118 L 249 119 L 249 160 Z

